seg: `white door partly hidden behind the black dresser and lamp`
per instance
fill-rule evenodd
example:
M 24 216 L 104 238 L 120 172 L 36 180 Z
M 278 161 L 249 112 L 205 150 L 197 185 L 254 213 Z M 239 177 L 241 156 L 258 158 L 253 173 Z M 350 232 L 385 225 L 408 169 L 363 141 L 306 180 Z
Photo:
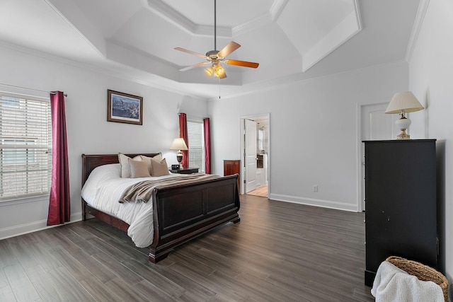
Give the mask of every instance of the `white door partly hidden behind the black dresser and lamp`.
M 395 121 L 399 115 L 386 115 L 385 110 L 388 103 L 377 105 L 362 106 L 362 141 L 379 141 L 396 139 L 401 132 L 396 128 Z M 365 144 L 362 144 L 362 175 L 360 190 L 360 200 L 362 201 L 362 211 L 365 211 Z

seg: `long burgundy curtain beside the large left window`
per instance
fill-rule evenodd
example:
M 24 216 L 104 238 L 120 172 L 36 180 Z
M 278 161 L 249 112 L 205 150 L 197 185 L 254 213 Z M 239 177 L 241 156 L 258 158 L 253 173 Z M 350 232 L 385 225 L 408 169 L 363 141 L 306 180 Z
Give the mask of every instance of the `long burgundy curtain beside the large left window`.
M 50 93 L 50 108 L 52 111 L 52 185 L 47 226 L 65 223 L 71 216 L 64 93 L 61 91 Z

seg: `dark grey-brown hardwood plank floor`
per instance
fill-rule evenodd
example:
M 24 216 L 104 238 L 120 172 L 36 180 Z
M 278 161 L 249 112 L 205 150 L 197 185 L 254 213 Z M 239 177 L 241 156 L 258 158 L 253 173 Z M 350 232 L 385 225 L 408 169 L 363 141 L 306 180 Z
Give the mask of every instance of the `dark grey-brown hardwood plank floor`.
M 241 195 L 156 265 L 96 219 L 0 240 L 0 301 L 374 301 L 364 215 Z

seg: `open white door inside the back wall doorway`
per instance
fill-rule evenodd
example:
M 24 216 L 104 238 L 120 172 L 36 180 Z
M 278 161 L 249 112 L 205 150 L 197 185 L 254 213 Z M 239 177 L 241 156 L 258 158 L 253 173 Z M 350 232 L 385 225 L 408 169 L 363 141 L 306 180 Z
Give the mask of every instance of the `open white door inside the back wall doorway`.
M 256 122 L 244 120 L 246 152 L 246 193 L 256 189 Z

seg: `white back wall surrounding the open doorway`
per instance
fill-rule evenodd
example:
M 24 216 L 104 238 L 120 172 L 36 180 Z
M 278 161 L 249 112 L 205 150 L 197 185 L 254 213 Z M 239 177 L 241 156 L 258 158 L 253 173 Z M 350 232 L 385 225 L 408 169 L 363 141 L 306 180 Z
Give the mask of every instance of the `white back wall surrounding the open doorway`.
M 408 64 L 396 62 L 212 101 L 214 173 L 240 158 L 240 117 L 270 112 L 270 198 L 357 211 L 357 103 L 407 87 Z

